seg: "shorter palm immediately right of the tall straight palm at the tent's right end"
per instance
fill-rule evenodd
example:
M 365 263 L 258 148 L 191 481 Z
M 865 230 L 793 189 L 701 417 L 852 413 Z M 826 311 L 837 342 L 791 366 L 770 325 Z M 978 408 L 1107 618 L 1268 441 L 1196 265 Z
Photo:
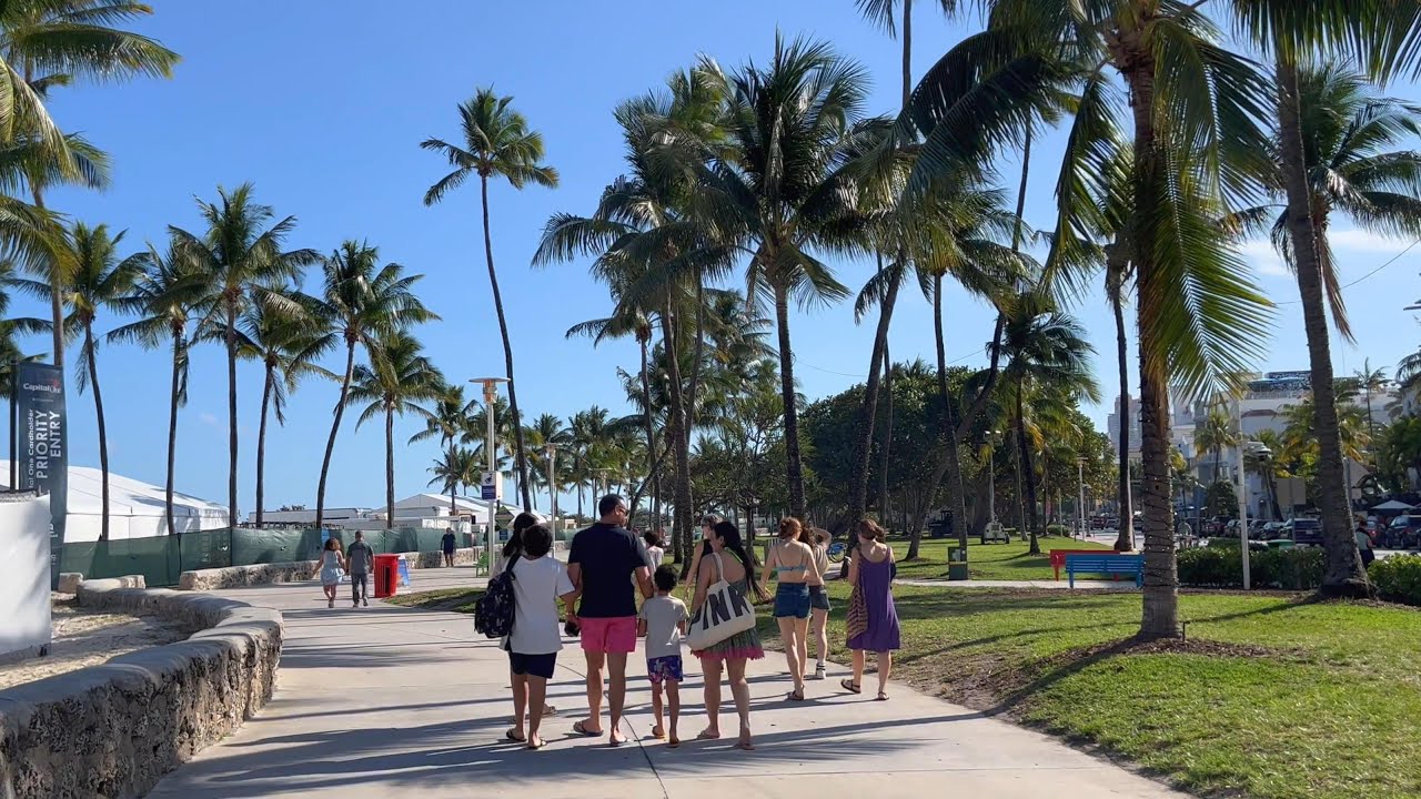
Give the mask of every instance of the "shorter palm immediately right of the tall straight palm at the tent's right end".
M 296 391 L 303 377 L 335 375 L 315 361 L 335 348 L 338 338 L 313 303 L 303 303 L 291 290 L 260 290 L 242 314 L 237 334 L 240 353 L 261 361 L 261 422 L 257 427 L 257 496 L 256 523 L 263 522 L 266 502 L 266 432 L 267 411 L 286 425 L 286 397 Z

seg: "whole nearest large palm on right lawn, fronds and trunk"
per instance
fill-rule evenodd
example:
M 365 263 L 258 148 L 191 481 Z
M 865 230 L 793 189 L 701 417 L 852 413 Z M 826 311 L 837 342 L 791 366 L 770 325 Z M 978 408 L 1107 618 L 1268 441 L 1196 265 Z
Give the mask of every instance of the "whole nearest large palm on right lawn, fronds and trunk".
M 1248 60 L 1222 44 L 1198 4 L 992 0 L 988 7 L 993 27 L 980 41 L 1007 51 L 1025 45 L 1043 60 L 1064 51 L 1071 64 L 1103 67 L 1073 73 L 1079 101 L 1057 186 L 1057 263 L 1070 263 L 1083 239 L 1101 227 L 1087 222 L 1096 215 L 1091 198 L 1098 196 L 1090 183 L 1111 169 L 1110 148 L 1103 145 L 1115 136 L 1125 111 L 1121 101 L 1128 98 L 1133 212 L 1127 237 L 1138 296 L 1145 527 L 1140 636 L 1178 637 L 1168 394 L 1171 387 L 1195 395 L 1232 388 L 1236 375 L 1262 355 L 1268 300 L 1249 281 L 1229 242 L 1218 236 L 1215 220 L 1245 189 L 1241 175 L 1249 158 L 1241 152 L 1262 136 L 1255 119 L 1266 84 Z M 1283 17 L 1282 3 L 1236 0 L 1229 10 L 1259 7 L 1279 13 L 1270 21 L 1303 21 L 1297 14 Z M 1117 92 L 1117 78 L 1124 92 Z M 931 109 L 934 88 L 959 81 L 961 75 L 929 73 L 915 94 L 915 108 Z M 928 166 L 919 171 L 919 182 L 942 172 L 931 159 L 919 163 Z

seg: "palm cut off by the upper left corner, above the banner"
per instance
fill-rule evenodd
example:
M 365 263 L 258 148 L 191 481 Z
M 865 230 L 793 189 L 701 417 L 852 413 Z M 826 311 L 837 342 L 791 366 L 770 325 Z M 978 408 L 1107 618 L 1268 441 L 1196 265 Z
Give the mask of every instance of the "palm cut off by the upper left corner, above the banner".
M 44 209 L 44 191 L 55 182 L 102 185 L 104 171 L 92 171 L 94 152 L 87 142 L 60 136 L 44 109 L 51 88 L 75 80 L 114 81 L 135 75 L 172 77 L 179 57 L 159 41 L 119 30 L 128 21 L 152 14 L 144 3 L 132 0 L 10 0 L 0 9 L 0 55 L 6 63 L 0 80 L 0 124 L 11 138 L 16 128 L 21 138 L 48 145 L 51 163 L 58 169 L 31 169 L 27 181 L 34 206 Z M 18 125 L 17 125 L 18 122 Z M 88 163 L 85 163 L 88 161 Z M 45 272 L 51 296 L 58 300 L 64 266 L 54 256 Z M 61 307 L 51 303 L 54 318 L 54 364 L 64 365 L 60 330 Z

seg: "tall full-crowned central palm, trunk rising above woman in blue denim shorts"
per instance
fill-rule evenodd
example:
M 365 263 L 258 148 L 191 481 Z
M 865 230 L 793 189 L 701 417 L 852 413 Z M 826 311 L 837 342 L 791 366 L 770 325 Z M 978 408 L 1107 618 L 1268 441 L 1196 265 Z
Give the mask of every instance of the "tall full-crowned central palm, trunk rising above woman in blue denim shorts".
M 858 122 L 868 75 L 827 43 L 786 43 L 779 34 L 764 67 L 747 64 L 733 74 L 715 64 L 705 68 L 723 85 L 728 141 L 703 169 L 696 200 L 752 253 L 749 294 L 773 303 L 789 512 L 803 518 L 807 508 L 789 309 L 791 300 L 811 307 L 848 296 L 814 253 L 853 252 L 861 245 L 857 182 L 840 165 L 863 135 Z

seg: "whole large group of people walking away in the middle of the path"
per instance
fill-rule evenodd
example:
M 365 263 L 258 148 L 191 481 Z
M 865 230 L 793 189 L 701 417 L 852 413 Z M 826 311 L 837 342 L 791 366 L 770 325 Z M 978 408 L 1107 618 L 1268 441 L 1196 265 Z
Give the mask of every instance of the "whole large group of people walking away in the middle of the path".
M 509 542 L 495 563 L 490 594 L 495 583 L 503 580 L 499 590 L 512 587 L 514 604 L 512 630 L 500 641 L 513 681 L 514 722 L 504 738 L 529 749 L 544 746 L 543 718 L 556 714 L 546 701 L 547 682 L 567 636 L 580 640 L 587 661 L 588 712 L 573 724 L 573 732 L 590 738 L 605 735 L 612 746 L 624 744 L 627 660 L 637 650 L 637 640 L 644 638 L 655 718 L 652 736 L 669 746 L 681 745 L 682 653 L 689 648 L 705 677 L 706 726 L 696 738 L 720 738 L 720 685 L 728 680 L 739 717 L 735 746 L 753 749 L 746 667 L 764 657 L 755 603 L 769 604 L 773 597 L 772 613 L 791 680 L 789 699 L 804 701 L 806 678 L 813 674 L 814 680 L 824 680 L 827 674 L 828 533 L 811 532 L 797 519 L 783 519 L 757 574 L 739 527 L 705 516 L 703 543 L 682 580 L 671 564 L 662 563 L 658 533 L 638 537 L 627 529 L 628 508 L 621 496 L 601 498 L 597 512 L 600 520 L 573 537 L 566 567 L 550 556 L 551 530 L 529 513 L 514 519 Z M 853 589 L 847 611 L 853 674 L 840 687 L 861 694 L 865 653 L 877 653 L 875 698 L 887 701 L 892 653 L 899 645 L 892 603 L 894 554 L 877 523 L 864 520 L 855 532 L 858 546 L 848 566 Z M 773 594 L 772 576 L 777 580 Z M 691 597 L 689 607 L 676 597 L 682 584 Z M 810 638 L 817 655 L 813 672 L 807 668 Z

